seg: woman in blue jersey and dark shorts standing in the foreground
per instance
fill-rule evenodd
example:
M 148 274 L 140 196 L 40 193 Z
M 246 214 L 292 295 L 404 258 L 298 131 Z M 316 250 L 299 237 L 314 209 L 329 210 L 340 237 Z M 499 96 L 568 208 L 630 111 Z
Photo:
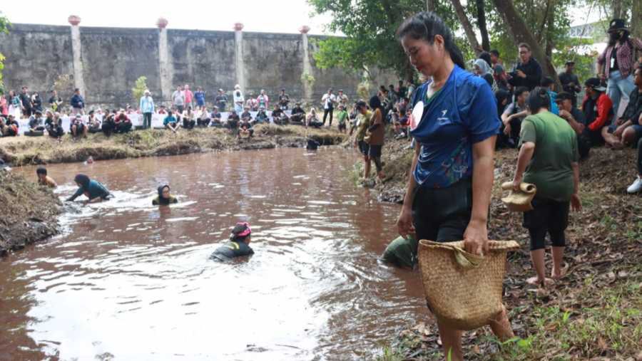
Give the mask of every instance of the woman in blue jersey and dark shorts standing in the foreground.
M 497 105 L 486 80 L 464 70 L 452 31 L 421 12 L 397 35 L 426 83 L 415 92 L 410 135 L 417 140 L 399 234 L 447 242 L 464 240 L 470 253 L 488 251 L 486 222 L 493 185 Z M 506 311 L 491 321 L 500 339 L 513 333 Z M 463 360 L 462 333 L 439 325 L 444 352 Z

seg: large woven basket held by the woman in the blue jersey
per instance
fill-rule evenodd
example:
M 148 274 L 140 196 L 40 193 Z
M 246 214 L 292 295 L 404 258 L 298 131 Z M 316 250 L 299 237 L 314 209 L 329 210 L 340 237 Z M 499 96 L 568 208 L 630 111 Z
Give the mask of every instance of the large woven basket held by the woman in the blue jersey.
M 489 254 L 464 251 L 464 241 L 419 241 L 419 269 L 428 308 L 442 325 L 474 330 L 502 310 L 506 252 L 516 241 L 489 241 Z

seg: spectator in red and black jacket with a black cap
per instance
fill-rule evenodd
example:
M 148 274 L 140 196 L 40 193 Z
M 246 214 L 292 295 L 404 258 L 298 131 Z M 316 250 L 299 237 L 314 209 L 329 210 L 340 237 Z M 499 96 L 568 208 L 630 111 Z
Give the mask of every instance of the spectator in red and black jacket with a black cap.
M 604 144 L 603 134 L 608 132 L 607 125 L 611 124 L 613 117 L 613 103 L 611 98 L 604 93 L 606 87 L 601 85 L 598 78 L 588 78 L 584 82 L 586 95 L 582 101 L 582 112 L 588 124 L 588 135 L 591 147 Z

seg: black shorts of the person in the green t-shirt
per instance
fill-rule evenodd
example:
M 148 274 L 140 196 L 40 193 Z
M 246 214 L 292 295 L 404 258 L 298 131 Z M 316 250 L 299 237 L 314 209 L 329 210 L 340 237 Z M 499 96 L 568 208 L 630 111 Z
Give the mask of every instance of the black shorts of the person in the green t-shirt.
M 533 210 L 524 212 L 523 223 L 531 235 L 531 251 L 544 248 L 546 233 L 551 236 L 553 246 L 564 247 L 571 203 L 535 197 L 531 204 Z

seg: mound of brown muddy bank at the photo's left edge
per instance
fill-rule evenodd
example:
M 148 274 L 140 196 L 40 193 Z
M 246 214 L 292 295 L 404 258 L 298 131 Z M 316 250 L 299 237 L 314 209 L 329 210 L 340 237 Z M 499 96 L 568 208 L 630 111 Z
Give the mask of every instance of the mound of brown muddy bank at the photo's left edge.
M 0 170 L 0 256 L 58 233 L 60 201 L 34 181 Z

